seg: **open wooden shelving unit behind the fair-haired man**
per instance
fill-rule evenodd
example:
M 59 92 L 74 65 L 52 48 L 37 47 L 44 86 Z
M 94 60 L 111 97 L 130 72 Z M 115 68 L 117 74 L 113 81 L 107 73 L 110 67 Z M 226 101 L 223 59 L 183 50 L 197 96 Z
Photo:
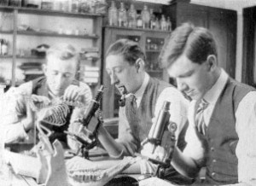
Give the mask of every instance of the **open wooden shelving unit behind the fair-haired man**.
M 12 19 L 9 21 L 11 26 L 6 28 L 0 24 L 0 38 L 8 38 L 9 54 L 0 55 L 0 60 L 12 63 L 11 84 L 13 86 L 16 84 L 15 69 L 22 62 L 44 62 L 44 58 L 31 53 L 31 49 L 36 48 L 39 44 L 68 43 L 73 44 L 78 51 L 81 51 L 82 48 L 97 48 L 99 57 L 90 59 L 84 57 L 81 60 L 81 65 L 98 67 L 100 73 L 102 15 L 0 6 L 0 14 L 6 13 L 12 15 Z M 100 83 L 98 80 L 94 85 Z

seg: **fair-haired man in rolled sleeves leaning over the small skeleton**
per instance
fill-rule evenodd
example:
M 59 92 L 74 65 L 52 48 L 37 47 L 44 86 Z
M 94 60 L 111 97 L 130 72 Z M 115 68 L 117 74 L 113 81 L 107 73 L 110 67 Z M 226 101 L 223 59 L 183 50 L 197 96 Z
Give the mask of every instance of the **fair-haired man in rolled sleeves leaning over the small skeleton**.
M 3 102 L 8 103 L 8 105 L 1 105 L 1 107 L 5 107 L 1 113 L 5 142 L 32 142 L 35 113 L 27 99 L 32 99 L 32 102 L 42 105 L 56 101 L 80 102 L 82 104 L 81 108 L 70 108 L 70 113 L 65 116 L 66 122 L 61 126 L 47 126 L 53 131 L 51 141 L 58 138 L 61 142 L 67 142 L 63 131 L 84 114 L 84 110 L 89 106 L 91 100 L 90 87 L 75 79 L 78 65 L 79 54 L 72 45 L 52 46 L 47 51 L 46 64 L 43 67 L 44 76 L 21 84 L 18 88 L 12 88 L 4 95 Z

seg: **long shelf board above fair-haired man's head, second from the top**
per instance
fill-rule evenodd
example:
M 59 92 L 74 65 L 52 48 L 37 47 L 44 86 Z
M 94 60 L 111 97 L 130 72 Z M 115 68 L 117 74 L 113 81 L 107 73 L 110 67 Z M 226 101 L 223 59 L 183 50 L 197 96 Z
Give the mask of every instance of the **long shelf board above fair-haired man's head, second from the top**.
M 97 39 L 99 38 L 96 35 L 73 35 L 73 34 L 59 34 L 57 32 L 34 32 L 34 31 L 18 31 L 17 32 L 20 35 L 26 35 L 26 36 L 44 36 L 44 37 L 58 37 L 58 38 L 92 38 Z

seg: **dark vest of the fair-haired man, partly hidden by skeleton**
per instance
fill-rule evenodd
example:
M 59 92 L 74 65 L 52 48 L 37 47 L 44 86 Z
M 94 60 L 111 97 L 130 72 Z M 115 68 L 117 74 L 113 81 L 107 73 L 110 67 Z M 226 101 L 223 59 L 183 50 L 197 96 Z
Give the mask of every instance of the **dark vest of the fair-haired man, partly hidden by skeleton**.
M 79 85 L 79 81 L 74 80 L 73 84 Z M 44 76 L 32 80 L 32 94 L 35 94 L 38 96 L 47 96 L 47 97 L 49 96 L 49 90 L 47 87 L 46 78 Z M 68 129 L 71 114 L 73 113 L 73 108 L 70 106 L 69 108 L 71 112 L 67 114 L 67 117 L 66 117 L 67 122 L 64 125 L 55 126 L 55 125 L 44 124 L 44 126 L 46 126 L 51 131 L 53 131 L 53 134 L 49 137 L 50 142 L 54 142 L 55 139 L 58 139 L 61 142 L 64 142 L 64 144 L 67 144 L 67 135 L 64 133 L 64 131 L 67 131 Z

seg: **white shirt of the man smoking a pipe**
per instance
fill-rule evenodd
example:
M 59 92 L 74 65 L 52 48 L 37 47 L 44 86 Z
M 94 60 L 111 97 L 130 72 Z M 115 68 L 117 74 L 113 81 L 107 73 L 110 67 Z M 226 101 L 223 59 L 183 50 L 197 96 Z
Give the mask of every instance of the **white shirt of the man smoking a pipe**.
M 135 92 L 137 107 L 140 106 L 141 101 L 143 99 L 144 91 L 149 82 L 149 75 L 145 73 L 145 77 L 143 79 L 143 84 L 137 92 Z M 130 96 L 130 95 L 128 95 Z M 180 131 L 183 129 L 183 125 L 187 122 L 187 111 L 189 107 L 189 101 L 184 98 L 182 93 L 178 91 L 174 87 L 167 87 L 162 90 L 160 96 L 156 100 L 154 115 L 155 117 L 152 119 L 154 123 L 156 117 L 158 116 L 160 109 L 162 108 L 164 102 L 171 102 L 170 106 L 170 121 L 177 124 L 177 131 L 175 132 L 176 137 L 179 136 Z M 125 117 L 125 107 L 119 108 L 119 138 L 116 140 L 124 144 L 126 148 L 129 149 L 129 152 L 125 152 L 126 155 L 132 155 L 137 150 L 137 142 L 135 141 L 131 127 Z M 143 140 L 143 139 L 142 139 Z

